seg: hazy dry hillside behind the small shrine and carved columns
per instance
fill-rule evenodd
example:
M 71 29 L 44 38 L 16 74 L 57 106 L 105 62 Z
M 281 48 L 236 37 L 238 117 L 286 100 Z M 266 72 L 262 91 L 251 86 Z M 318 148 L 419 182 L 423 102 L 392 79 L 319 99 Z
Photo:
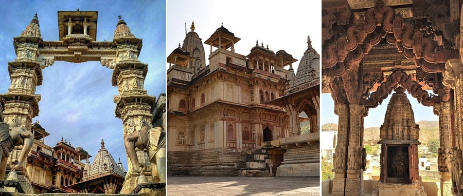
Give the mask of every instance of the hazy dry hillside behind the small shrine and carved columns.
M 420 126 L 419 141 L 422 144 L 428 143 L 431 139 L 439 140 L 439 122 L 438 121 L 419 121 Z M 322 131 L 337 130 L 337 124 L 328 123 L 322 126 Z M 380 140 L 379 127 L 367 127 L 363 129 L 363 141 L 365 144 L 374 145 Z

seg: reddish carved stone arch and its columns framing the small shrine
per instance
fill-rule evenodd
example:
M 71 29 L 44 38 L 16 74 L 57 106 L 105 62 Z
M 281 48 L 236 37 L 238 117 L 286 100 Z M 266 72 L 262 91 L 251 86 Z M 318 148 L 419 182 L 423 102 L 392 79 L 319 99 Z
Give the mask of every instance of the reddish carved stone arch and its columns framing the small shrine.
M 363 147 L 368 109 L 400 86 L 439 116 L 441 194 L 462 193 L 462 183 L 450 181 L 461 171 L 449 170 L 463 163 L 461 3 L 323 0 L 322 7 L 323 92 L 332 94 L 339 115 L 333 195 L 364 193 L 362 168 L 349 168 L 348 159 Z M 459 160 L 452 167 L 444 163 L 447 153 Z

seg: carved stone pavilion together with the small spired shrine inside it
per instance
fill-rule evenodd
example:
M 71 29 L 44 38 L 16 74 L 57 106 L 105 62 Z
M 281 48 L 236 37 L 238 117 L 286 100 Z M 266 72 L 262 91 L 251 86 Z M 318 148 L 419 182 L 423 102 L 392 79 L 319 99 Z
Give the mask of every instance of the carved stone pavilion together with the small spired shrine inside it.
M 324 194 L 463 193 L 461 11 L 454 0 L 322 0 L 322 92 L 339 116 L 334 179 Z M 406 93 L 439 118 L 440 182 L 432 186 L 418 170 L 420 128 Z M 366 182 L 364 117 L 388 96 L 380 179 Z

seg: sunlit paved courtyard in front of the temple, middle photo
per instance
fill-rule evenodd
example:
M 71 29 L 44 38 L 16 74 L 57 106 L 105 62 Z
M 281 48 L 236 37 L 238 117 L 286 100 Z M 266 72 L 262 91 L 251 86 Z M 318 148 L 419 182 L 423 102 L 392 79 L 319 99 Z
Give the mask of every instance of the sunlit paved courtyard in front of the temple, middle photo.
M 167 177 L 172 195 L 319 195 L 318 177 Z

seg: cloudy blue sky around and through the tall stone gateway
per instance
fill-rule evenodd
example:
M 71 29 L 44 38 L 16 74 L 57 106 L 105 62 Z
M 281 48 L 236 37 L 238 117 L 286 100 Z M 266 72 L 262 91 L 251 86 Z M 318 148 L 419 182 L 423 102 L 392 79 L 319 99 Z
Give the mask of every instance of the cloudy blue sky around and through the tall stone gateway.
M 19 36 L 38 12 L 40 31 L 44 41 L 57 41 L 58 11 L 98 11 L 97 41 L 113 40 L 114 30 L 122 19 L 132 33 L 143 38 L 139 60 L 147 63 L 148 74 L 145 88 L 149 95 L 166 92 L 165 70 L 165 1 L 2 1 L 0 13 L 0 93 L 6 93 L 10 85 L 7 62 L 16 57 L 13 37 Z M 40 113 L 32 120 L 50 133 L 45 143 L 55 146 L 61 136 L 74 147 L 82 147 L 92 156 L 105 147 L 117 162 L 120 156 L 127 169 L 123 146 L 122 123 L 114 114 L 113 102 L 117 88 L 111 85 L 112 70 L 99 62 L 74 64 L 55 62 L 43 71 L 43 84 L 36 94 L 42 95 Z M 91 159 L 93 161 L 93 158 Z

